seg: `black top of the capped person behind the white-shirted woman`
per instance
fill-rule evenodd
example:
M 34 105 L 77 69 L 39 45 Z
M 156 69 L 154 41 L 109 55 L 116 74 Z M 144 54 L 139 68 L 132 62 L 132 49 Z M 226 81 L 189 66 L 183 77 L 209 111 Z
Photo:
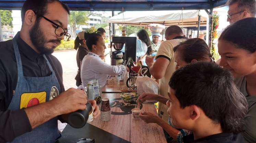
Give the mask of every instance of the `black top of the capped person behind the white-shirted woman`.
M 83 61 L 84 56 L 87 54 L 88 54 L 88 49 L 86 47 L 82 47 L 82 46 L 78 47 L 78 50 L 76 53 L 76 63 L 77 63 L 78 71 L 77 71 L 77 75 L 75 77 L 77 86 L 81 85 L 81 83 L 82 83 L 81 74 L 80 74 L 81 73 L 80 62 Z

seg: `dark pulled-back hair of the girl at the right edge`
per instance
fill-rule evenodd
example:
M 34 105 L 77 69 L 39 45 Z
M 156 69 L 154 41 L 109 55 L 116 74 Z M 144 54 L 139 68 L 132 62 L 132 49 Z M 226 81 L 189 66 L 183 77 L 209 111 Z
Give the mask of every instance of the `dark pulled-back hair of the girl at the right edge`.
M 256 18 L 245 18 L 227 27 L 220 35 L 219 40 L 234 44 L 237 48 L 250 53 L 256 51 Z

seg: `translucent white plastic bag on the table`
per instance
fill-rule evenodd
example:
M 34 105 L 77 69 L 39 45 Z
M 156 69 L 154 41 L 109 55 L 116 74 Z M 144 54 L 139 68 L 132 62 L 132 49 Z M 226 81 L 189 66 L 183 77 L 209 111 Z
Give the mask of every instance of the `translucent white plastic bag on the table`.
M 156 81 L 149 78 L 148 76 L 138 76 L 136 79 L 137 93 L 142 95 L 142 93 L 153 93 L 158 94 L 159 86 Z M 158 101 L 146 100 L 143 103 L 156 103 Z

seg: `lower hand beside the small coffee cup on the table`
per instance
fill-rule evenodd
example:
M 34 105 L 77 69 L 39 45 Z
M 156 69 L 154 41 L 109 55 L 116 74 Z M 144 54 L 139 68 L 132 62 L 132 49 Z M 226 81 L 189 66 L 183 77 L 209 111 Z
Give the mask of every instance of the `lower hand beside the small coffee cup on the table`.
M 158 123 L 159 121 L 161 121 L 161 118 L 157 114 L 150 113 L 150 112 L 141 112 L 139 114 L 139 117 L 147 124 Z

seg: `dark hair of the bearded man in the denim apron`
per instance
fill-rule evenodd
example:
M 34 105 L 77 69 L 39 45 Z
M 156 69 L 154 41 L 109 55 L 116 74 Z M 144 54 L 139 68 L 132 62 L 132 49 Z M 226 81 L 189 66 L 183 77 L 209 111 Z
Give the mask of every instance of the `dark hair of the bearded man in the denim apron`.
M 47 13 L 47 4 L 53 2 L 59 2 L 62 7 L 68 12 L 68 14 L 70 14 L 69 7 L 59 0 L 26 0 L 21 9 L 22 22 L 24 20 L 27 10 L 33 10 L 37 15 L 36 20 L 39 20 L 41 18 L 39 17 L 40 15 L 45 15 Z

